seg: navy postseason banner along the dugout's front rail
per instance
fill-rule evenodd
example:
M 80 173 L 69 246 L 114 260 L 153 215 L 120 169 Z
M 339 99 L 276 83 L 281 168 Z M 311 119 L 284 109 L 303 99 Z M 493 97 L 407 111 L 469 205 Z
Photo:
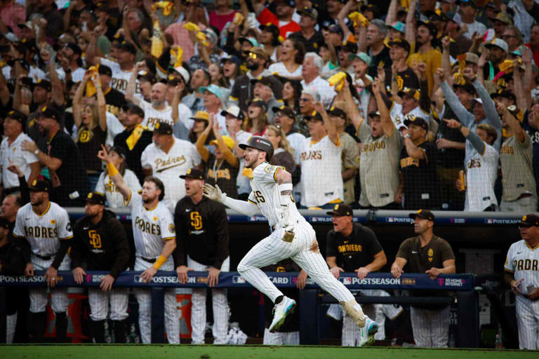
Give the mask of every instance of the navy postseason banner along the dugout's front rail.
M 84 283 L 76 284 L 70 271 L 58 272 L 60 287 L 98 287 L 105 271 L 87 271 Z M 140 271 L 125 271 L 114 281 L 116 287 L 208 287 L 208 272 L 189 272 L 187 283 L 181 284 L 175 272 L 159 271 L 150 283 L 140 280 Z M 42 287 L 46 285 L 44 271 L 36 271 L 33 277 L 0 276 L 0 287 Z M 297 272 L 267 272 L 267 276 L 277 287 L 295 287 Z M 471 274 L 452 274 L 430 279 L 426 274 L 405 273 L 401 278 L 394 278 L 391 273 L 369 273 L 364 279 L 356 273 L 341 273 L 339 280 L 350 289 L 404 289 L 404 290 L 472 290 L 474 276 Z M 215 287 L 241 288 L 251 287 L 237 272 L 221 272 L 219 284 Z M 307 278 L 307 288 L 317 288 L 311 278 Z

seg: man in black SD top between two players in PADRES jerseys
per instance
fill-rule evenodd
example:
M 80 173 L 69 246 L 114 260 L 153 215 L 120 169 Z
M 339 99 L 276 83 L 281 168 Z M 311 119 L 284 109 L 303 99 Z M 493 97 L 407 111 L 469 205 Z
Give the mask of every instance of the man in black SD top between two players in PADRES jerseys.
M 129 245 L 124 226 L 116 215 L 105 210 L 105 196 L 91 192 L 86 197 L 85 217 L 73 227 L 71 268 L 76 283 L 83 283 L 86 271 L 109 271 L 100 287 L 88 288 L 92 319 L 91 335 L 95 343 L 105 343 L 105 320 L 110 302 L 110 318 L 114 322 L 114 338 L 125 343 L 129 289 L 112 288 L 116 277 L 125 271 L 129 260 Z

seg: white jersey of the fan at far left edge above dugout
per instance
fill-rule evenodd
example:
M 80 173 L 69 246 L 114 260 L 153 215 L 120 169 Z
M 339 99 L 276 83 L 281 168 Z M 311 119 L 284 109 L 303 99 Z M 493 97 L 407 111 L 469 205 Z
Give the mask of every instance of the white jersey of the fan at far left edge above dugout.
M 8 137 L 2 140 L 0 144 L 0 170 L 2 172 L 2 186 L 4 188 L 19 187 L 19 177 L 15 173 L 6 170 L 11 163 L 18 165 L 25 178 L 28 179 L 31 168 L 30 163 L 39 162 L 36 155 L 32 152 L 22 151 L 22 141 L 32 141 L 25 133 L 20 133 L 12 144 L 8 144 Z

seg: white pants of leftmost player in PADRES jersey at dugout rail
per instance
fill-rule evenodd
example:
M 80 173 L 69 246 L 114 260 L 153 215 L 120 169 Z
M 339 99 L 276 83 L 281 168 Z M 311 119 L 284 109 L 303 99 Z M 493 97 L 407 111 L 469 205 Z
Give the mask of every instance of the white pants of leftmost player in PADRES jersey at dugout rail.
M 51 264 L 53 264 L 53 259 L 45 260 L 32 255 L 32 266 L 34 266 L 34 271 L 46 271 Z M 65 255 L 62 263 L 58 267 L 58 271 L 68 271 L 71 264 L 71 259 L 68 255 Z M 67 307 L 69 302 L 67 300 L 67 287 L 53 287 L 51 291 L 51 307 L 53 308 L 54 313 L 67 312 Z M 32 313 L 41 313 L 44 312 L 47 308 L 47 288 L 29 288 L 30 294 L 30 311 Z

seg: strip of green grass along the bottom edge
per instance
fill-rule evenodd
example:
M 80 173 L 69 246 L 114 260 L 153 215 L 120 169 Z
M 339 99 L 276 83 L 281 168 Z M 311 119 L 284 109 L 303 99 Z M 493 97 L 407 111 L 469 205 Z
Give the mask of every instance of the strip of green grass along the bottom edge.
M 343 348 L 340 346 L 191 346 L 191 345 L 4 345 L 2 358 L 152 358 L 152 359 L 512 359 L 539 358 L 537 351 L 484 349 Z

